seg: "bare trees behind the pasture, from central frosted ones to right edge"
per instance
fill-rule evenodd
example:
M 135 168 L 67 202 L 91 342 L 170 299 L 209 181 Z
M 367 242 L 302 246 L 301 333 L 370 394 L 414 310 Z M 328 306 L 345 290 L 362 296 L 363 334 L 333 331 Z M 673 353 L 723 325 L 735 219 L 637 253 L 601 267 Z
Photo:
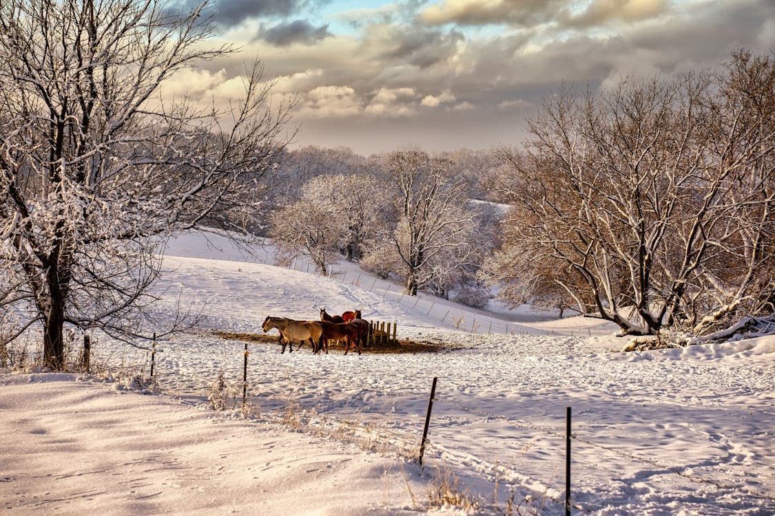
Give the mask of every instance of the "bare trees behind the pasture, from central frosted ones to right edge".
M 289 170 L 339 166 L 276 210 L 269 234 L 322 271 L 344 254 L 410 295 L 484 307 L 494 288 L 511 306 L 574 309 L 626 334 L 773 313 L 773 56 L 738 50 L 720 71 L 600 91 L 562 85 L 528 128 L 522 145 L 492 151 L 293 152 Z

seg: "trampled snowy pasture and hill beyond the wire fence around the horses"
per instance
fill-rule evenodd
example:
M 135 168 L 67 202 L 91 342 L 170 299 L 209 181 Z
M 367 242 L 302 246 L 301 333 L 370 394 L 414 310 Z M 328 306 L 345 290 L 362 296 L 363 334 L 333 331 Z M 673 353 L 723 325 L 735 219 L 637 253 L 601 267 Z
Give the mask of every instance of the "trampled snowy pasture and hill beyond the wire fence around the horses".
M 220 373 L 240 384 L 244 343 L 211 330 L 261 333 L 267 315 L 315 319 L 320 307 L 362 309 L 364 318 L 398 323 L 399 337 L 449 349 L 344 357 L 251 343 L 252 402 L 265 415 L 292 405 L 305 432 L 368 441 L 401 463 L 418 446 L 438 377 L 425 464 L 455 473 L 461 489 L 481 497 L 480 514 L 495 505 L 505 511 L 512 493 L 517 503 L 532 497 L 542 514 L 563 514 L 568 406 L 577 514 L 775 513 L 775 338 L 608 353 L 622 342 L 599 321 L 477 313 L 408 299 L 349 264 L 330 278 L 302 263 L 274 267 L 271 258 L 268 247 L 240 255 L 218 238 L 209 247 L 195 235 L 172 243 L 167 305 L 180 297 L 207 315 L 197 333 L 160 344 L 162 391 L 197 405 Z M 102 342 L 97 353 L 147 371 L 143 350 Z M 412 471 L 405 474 L 413 483 Z M 327 502 L 319 508 L 337 514 Z

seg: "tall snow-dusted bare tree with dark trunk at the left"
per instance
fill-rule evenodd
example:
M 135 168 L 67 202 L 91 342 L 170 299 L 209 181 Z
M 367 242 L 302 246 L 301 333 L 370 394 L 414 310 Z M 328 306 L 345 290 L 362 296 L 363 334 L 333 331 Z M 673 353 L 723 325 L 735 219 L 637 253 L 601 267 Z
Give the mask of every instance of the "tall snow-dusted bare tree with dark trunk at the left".
M 226 111 L 198 111 L 160 87 L 232 53 L 210 25 L 157 0 L 0 4 L 0 309 L 10 337 L 43 327 L 43 358 L 64 367 L 63 327 L 146 336 L 171 231 L 231 227 L 284 147 L 290 106 L 268 109 L 258 64 Z M 233 219 L 232 219 L 233 220 Z M 2 315 L 2 314 L 0 314 Z

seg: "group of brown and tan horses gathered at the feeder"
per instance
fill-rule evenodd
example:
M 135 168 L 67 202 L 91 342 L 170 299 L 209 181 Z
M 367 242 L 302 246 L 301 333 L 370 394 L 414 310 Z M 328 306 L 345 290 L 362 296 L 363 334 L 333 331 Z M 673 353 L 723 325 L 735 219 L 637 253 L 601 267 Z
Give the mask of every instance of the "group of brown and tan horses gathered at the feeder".
M 360 355 L 360 344 L 368 337 L 369 323 L 360 318 L 360 310 L 345 312 L 341 316 L 330 316 L 325 308 L 320 310 L 319 321 L 298 321 L 286 317 L 267 316 L 263 320 L 264 332 L 277 328 L 280 332 L 278 342 L 282 343 L 281 353 L 293 351 L 294 341 L 298 341 L 296 350 L 308 340 L 312 344 L 312 352 L 319 353 L 325 350 L 329 353 L 329 340 L 344 340 L 346 349 L 344 354 L 350 351 L 350 344 L 354 343 Z

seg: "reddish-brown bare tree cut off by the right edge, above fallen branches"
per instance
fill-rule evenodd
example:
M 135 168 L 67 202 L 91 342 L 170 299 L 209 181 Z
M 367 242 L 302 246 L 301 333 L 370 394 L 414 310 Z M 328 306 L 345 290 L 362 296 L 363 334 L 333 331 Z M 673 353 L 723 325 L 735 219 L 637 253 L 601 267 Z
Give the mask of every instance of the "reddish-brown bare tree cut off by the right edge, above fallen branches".
M 698 333 L 735 313 L 775 312 L 775 54 L 732 53 L 715 74 L 713 151 L 729 167 L 729 214 L 709 241 L 700 277 L 709 299 L 687 302 Z

